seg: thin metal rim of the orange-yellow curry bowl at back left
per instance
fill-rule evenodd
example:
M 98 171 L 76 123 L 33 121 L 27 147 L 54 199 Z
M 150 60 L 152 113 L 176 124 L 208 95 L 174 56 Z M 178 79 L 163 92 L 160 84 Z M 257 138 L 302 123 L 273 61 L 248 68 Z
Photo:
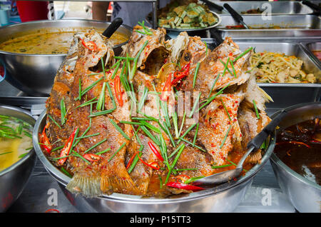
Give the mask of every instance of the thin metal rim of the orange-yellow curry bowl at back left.
M 14 27 L 14 26 L 23 26 L 24 24 L 54 23 L 54 22 L 57 22 L 57 21 L 87 21 L 87 22 L 92 21 L 92 22 L 97 22 L 97 23 L 101 23 L 101 24 L 110 24 L 111 23 L 111 22 L 108 22 L 108 21 L 98 21 L 98 20 L 90 20 L 90 19 L 40 20 L 40 21 L 28 21 L 28 22 L 23 22 L 23 23 L 19 23 L 19 24 L 11 24 L 11 25 L 4 26 L 4 27 L 0 28 L 0 31 L 2 29 L 11 28 L 11 27 Z M 131 28 L 131 26 L 128 26 L 126 24 L 122 24 L 121 27 L 122 26 L 125 29 L 128 29 L 129 31 L 133 30 L 133 28 Z M 124 44 L 127 44 L 127 43 L 128 43 L 128 40 L 123 42 L 123 43 L 121 43 L 121 44 L 113 46 L 113 48 L 117 48 L 119 46 L 123 46 Z M 35 56 L 39 56 L 39 57 L 41 57 L 41 56 L 66 56 L 67 55 L 67 54 L 21 54 L 21 53 L 14 53 L 14 52 L 1 51 L 1 50 L 0 50 L 0 53 L 1 54 L 8 54 L 8 55 L 15 55 L 15 56 L 31 56 L 31 57 L 35 57 Z

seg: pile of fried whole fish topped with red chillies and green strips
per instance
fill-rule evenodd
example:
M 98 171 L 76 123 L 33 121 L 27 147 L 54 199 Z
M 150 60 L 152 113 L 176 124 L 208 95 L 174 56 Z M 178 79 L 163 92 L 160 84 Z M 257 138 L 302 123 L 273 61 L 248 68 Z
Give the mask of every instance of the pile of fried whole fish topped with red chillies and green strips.
M 75 34 L 46 102 L 43 152 L 86 197 L 203 190 L 193 181 L 235 168 L 270 121 L 252 53 L 230 38 L 213 50 L 186 32 L 165 40 L 142 24 L 115 56 L 94 29 Z

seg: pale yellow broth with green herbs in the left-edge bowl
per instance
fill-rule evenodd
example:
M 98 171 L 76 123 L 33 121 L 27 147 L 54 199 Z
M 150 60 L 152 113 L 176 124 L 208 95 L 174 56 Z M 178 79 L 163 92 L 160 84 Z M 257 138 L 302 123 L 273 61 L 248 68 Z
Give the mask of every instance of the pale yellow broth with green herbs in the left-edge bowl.
M 0 116 L 0 171 L 19 161 L 33 148 L 32 126 L 17 118 Z

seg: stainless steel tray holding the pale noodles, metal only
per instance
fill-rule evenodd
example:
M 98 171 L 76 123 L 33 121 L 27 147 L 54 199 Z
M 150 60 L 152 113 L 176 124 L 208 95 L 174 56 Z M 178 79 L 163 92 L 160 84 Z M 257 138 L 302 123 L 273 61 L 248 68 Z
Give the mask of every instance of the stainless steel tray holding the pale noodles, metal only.
M 255 51 L 281 52 L 287 55 L 294 55 L 301 59 L 303 69 L 309 73 L 315 74 L 319 83 L 321 82 L 321 66 L 312 59 L 312 53 L 302 48 L 300 43 L 294 42 L 263 42 L 233 39 L 240 46 L 241 50 L 248 49 L 249 46 L 255 47 Z M 210 49 L 216 44 L 214 39 L 203 39 Z M 269 94 L 274 102 L 268 103 L 268 109 L 280 109 L 295 104 L 302 104 L 311 101 L 319 101 L 321 97 L 321 84 L 258 84 Z

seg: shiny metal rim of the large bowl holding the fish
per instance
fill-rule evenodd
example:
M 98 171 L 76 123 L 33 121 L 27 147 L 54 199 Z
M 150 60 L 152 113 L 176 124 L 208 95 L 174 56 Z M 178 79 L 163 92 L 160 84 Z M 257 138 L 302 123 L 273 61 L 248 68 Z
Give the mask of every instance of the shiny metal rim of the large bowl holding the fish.
M 63 174 L 61 171 L 59 171 L 58 168 L 56 168 L 46 158 L 43 151 L 41 151 L 41 148 L 38 143 L 39 142 L 38 132 L 41 127 L 41 122 L 44 121 L 45 117 L 46 117 L 46 109 L 41 113 L 41 115 L 37 119 L 36 124 L 34 126 L 33 143 L 34 143 L 36 155 L 38 156 L 41 163 L 43 163 L 44 167 L 49 172 L 49 174 L 53 176 L 56 179 L 56 181 L 61 183 L 63 186 L 66 186 L 67 183 L 71 180 L 71 178 Z M 108 195 L 98 196 L 98 198 L 116 200 L 116 201 L 126 201 L 131 203 L 176 203 L 181 201 L 191 201 L 197 198 L 205 198 L 208 196 L 213 196 L 213 194 L 227 191 L 228 189 L 238 186 L 241 183 L 245 183 L 246 181 L 253 178 L 255 174 L 258 173 L 258 171 L 260 171 L 261 168 L 263 168 L 267 160 L 270 158 L 270 154 L 272 153 L 274 146 L 275 146 L 275 133 L 272 135 L 272 140 L 270 141 L 267 151 L 265 151 L 265 154 L 263 156 L 261 163 L 253 166 L 253 168 L 251 168 L 247 173 L 245 173 L 245 176 L 240 176 L 240 178 L 238 178 L 238 181 L 233 181 L 233 182 L 230 181 L 228 183 L 223 183 L 214 188 L 208 188 L 203 191 L 183 194 L 178 196 L 178 198 L 154 198 L 154 197 L 143 198 L 142 196 L 133 196 L 133 195 L 127 195 L 127 194 L 121 194 L 121 193 L 113 193 L 109 196 Z

